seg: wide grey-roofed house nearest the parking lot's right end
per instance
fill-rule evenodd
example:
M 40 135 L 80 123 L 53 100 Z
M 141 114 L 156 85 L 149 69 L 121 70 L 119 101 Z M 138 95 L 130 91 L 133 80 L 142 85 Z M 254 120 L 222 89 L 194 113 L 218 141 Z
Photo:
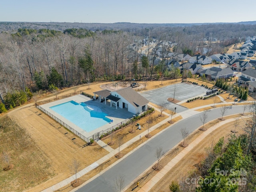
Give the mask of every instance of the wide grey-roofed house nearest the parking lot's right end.
M 217 68 L 212 67 L 209 69 L 202 70 L 200 72 L 200 76 L 205 74 L 206 77 L 210 77 L 211 79 L 219 79 L 219 78 L 228 78 L 233 76 L 233 71 L 230 68 Z

